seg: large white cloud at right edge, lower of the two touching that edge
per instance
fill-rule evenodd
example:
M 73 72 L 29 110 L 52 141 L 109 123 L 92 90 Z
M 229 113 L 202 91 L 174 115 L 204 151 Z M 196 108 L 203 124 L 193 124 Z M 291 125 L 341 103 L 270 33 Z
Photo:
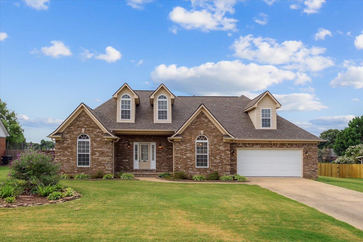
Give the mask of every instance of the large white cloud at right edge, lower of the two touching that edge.
M 344 60 L 345 71 L 338 73 L 337 77 L 329 83 L 331 87 L 352 86 L 354 89 L 363 87 L 363 66 L 355 66 L 352 60 Z

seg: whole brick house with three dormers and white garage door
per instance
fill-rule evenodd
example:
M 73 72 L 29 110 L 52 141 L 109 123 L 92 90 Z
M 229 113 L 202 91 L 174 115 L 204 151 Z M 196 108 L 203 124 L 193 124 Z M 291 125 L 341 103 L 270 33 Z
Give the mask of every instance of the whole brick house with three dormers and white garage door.
M 265 91 L 240 97 L 175 96 L 125 83 L 94 110 L 81 103 L 52 133 L 62 173 L 241 174 L 317 178 L 323 139 L 281 118 Z

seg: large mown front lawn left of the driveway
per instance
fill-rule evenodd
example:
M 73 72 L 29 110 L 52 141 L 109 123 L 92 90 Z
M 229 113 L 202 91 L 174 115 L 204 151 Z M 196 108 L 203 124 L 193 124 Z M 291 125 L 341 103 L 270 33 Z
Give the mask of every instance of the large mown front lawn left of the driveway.
M 83 197 L 62 204 L 3 208 L 0 238 L 7 241 L 363 241 L 362 230 L 257 185 L 122 180 L 63 180 L 62 183 Z

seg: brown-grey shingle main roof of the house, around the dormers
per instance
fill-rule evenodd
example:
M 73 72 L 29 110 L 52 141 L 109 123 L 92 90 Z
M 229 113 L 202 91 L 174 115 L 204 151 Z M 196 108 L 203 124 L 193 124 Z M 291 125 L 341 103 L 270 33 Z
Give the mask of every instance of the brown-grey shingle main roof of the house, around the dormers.
M 277 129 L 266 130 L 254 128 L 249 115 L 243 110 L 251 100 L 241 97 L 184 97 L 176 96 L 172 105 L 172 123 L 154 123 L 154 107 L 149 103 L 153 91 L 135 91 L 140 98 L 136 106 L 135 123 L 116 122 L 117 104 L 113 98 L 94 109 L 95 116 L 109 130 L 178 130 L 197 110 L 200 104 L 216 117 L 225 129 L 238 139 L 272 139 L 272 140 L 321 140 L 319 137 L 303 130 L 295 124 L 277 115 Z M 262 95 L 262 94 L 261 94 Z M 255 98 L 256 99 L 256 98 Z M 253 99 L 254 100 L 254 99 Z M 258 99 L 257 99 L 258 100 Z M 253 106 L 253 104 L 252 104 Z

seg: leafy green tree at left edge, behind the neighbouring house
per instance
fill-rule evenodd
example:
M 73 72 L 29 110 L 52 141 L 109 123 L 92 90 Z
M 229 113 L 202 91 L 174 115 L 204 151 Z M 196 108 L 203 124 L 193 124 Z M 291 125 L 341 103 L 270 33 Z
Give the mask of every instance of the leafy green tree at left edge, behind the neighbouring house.
M 8 110 L 6 102 L 0 99 L 0 118 L 5 128 L 7 129 L 9 136 L 6 138 L 7 142 L 23 143 L 25 142 L 24 129 L 16 117 L 14 111 Z

